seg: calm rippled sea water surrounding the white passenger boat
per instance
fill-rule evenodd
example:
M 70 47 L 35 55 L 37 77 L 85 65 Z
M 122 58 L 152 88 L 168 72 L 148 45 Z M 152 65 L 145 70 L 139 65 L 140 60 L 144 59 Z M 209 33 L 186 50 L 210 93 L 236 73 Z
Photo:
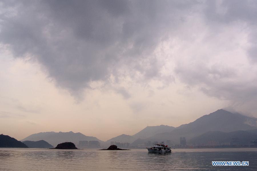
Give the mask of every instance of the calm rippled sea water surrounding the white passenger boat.
M 249 161 L 249 166 L 212 166 L 213 160 Z M 0 148 L 0 170 L 257 170 L 257 148 L 173 149 L 169 154 Z

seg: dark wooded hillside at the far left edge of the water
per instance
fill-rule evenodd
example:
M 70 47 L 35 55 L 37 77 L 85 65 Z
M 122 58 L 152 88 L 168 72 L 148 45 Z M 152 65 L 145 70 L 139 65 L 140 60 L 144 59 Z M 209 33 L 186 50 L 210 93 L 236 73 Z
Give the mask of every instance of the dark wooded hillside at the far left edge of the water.
M 2 148 L 28 148 L 25 144 L 22 142 L 16 140 L 15 138 L 12 138 L 8 135 L 0 135 L 0 147 Z

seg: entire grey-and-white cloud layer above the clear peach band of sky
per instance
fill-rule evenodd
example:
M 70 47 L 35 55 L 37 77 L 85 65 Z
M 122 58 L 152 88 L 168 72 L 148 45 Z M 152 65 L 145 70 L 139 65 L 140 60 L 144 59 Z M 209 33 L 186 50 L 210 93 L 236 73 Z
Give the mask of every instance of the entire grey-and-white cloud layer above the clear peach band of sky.
M 139 113 L 176 85 L 178 94 L 197 90 L 256 116 L 256 16 L 257 1 L 243 0 L 8 0 L 0 1 L 0 43 L 78 102 L 87 91 L 113 91 Z M 147 98 L 136 98 L 137 86 Z

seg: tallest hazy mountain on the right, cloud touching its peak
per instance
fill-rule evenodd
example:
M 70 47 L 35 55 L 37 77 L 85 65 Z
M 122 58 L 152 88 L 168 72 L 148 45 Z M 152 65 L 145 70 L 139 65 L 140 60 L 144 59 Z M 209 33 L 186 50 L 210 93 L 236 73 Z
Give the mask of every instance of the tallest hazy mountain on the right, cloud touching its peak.
M 194 122 L 177 127 L 169 133 L 160 133 L 149 140 L 173 140 L 179 142 L 179 137 L 187 139 L 199 136 L 208 131 L 232 132 L 237 130 L 252 130 L 257 128 L 257 118 L 234 114 L 220 109 L 204 115 Z

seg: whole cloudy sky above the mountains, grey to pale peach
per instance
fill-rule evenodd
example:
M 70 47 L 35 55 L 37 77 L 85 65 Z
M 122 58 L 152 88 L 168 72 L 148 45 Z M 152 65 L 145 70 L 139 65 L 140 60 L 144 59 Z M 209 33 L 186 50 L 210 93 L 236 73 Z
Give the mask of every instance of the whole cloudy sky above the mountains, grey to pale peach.
M 100 140 L 257 117 L 257 1 L 0 0 L 0 132 Z

